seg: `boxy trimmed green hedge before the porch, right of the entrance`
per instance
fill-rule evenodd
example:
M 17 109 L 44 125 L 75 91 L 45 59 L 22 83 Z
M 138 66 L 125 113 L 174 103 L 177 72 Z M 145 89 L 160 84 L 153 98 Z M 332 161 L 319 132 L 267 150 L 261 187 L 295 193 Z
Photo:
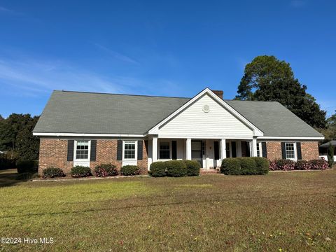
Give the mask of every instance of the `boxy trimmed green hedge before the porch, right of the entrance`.
M 225 158 L 221 173 L 226 175 L 262 175 L 267 174 L 269 161 L 266 158 Z

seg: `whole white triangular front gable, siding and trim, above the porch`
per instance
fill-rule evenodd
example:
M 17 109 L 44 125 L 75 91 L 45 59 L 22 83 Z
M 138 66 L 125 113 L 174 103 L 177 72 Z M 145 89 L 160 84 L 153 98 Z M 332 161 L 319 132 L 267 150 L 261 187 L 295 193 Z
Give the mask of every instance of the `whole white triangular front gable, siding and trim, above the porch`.
M 194 139 L 252 139 L 255 132 L 262 135 L 262 132 L 235 112 L 237 113 L 216 94 L 206 89 L 148 133 L 158 134 L 159 137 Z

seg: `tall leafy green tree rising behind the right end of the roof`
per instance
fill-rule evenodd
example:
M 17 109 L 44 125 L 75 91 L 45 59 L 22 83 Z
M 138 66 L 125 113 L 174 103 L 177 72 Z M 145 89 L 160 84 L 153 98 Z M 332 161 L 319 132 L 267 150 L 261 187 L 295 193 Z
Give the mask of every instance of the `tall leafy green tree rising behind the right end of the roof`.
M 306 90 L 290 64 L 264 55 L 246 64 L 235 99 L 280 102 L 312 127 L 325 128 L 325 111 Z

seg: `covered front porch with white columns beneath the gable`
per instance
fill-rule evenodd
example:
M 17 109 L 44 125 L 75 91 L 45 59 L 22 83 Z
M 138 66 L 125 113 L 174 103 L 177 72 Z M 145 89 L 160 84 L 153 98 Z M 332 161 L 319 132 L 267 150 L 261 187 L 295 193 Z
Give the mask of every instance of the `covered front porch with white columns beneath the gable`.
M 152 162 L 197 160 L 203 169 L 221 167 L 224 158 L 260 156 L 260 144 L 253 139 L 148 139 L 148 169 Z

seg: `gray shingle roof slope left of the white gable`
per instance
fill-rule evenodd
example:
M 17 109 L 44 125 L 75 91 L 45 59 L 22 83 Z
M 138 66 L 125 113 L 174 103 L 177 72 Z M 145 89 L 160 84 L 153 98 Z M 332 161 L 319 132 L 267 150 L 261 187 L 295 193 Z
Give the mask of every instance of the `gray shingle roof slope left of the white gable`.
M 188 100 L 54 91 L 34 132 L 144 134 Z

